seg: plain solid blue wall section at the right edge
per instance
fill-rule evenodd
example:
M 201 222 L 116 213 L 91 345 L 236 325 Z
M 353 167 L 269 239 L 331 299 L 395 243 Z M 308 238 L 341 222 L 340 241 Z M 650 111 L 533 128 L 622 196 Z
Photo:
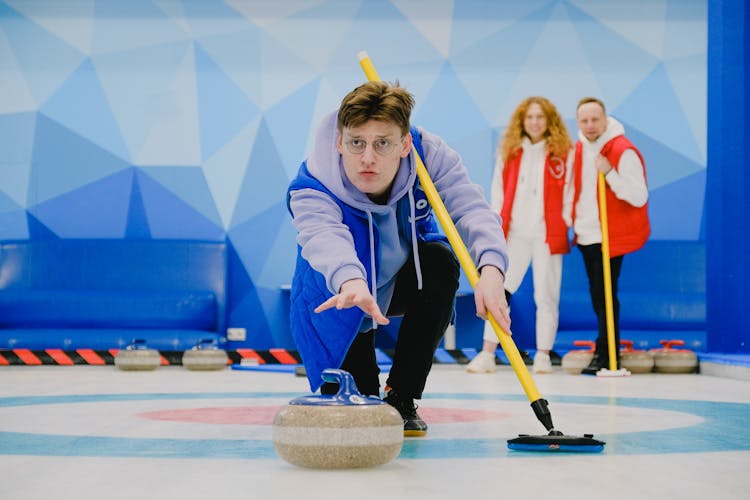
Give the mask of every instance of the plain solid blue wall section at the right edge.
M 750 9 L 743 0 L 711 3 L 709 31 L 709 162 L 706 183 L 708 347 L 750 353 L 750 177 L 747 58 Z

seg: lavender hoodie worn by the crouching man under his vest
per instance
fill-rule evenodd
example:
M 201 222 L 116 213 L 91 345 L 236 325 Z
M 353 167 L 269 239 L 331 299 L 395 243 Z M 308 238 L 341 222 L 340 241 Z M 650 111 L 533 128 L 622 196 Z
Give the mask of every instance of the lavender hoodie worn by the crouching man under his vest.
M 385 313 L 393 295 L 396 274 L 409 258 L 411 247 L 416 246 L 414 220 L 419 207 L 414 206 L 411 198 L 412 237 L 399 233 L 396 211 L 401 198 L 411 197 L 416 182 L 414 151 L 401 159 L 388 202 L 383 205 L 374 203 L 356 189 L 344 173 L 342 158 L 336 148 L 336 118 L 337 112 L 334 111 L 322 120 L 313 151 L 307 159 L 307 168 L 343 203 L 366 212 L 370 224 L 377 227 L 381 258 L 372 293 Z M 421 128 L 419 131 L 425 153 L 424 163 L 477 268 L 492 265 L 505 273 L 508 257 L 499 215 L 490 209 L 482 188 L 470 181 L 458 153 L 438 136 Z M 289 206 L 298 231 L 297 243 L 301 247 L 302 257 L 325 277 L 332 294 L 338 293 L 341 285 L 350 279 L 367 281 L 366 270 L 357 258 L 351 233 L 342 223 L 341 209 L 334 200 L 321 191 L 300 189 L 290 193 Z M 372 240 L 370 245 L 373 245 Z M 418 258 L 414 252 L 419 279 L 421 268 Z M 371 326 L 374 325 L 365 321 L 361 329 L 366 330 Z

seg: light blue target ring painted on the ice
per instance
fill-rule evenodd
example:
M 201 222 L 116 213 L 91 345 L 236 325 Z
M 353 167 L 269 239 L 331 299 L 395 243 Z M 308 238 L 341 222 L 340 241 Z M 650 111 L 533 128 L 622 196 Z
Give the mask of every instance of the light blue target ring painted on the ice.
M 294 398 L 299 393 L 175 393 L 21 396 L 0 398 L 0 409 L 72 403 L 111 403 L 146 400 L 211 400 Z M 516 396 L 486 394 L 431 394 L 428 399 L 522 401 Z M 554 404 L 586 404 L 680 412 L 699 417 L 695 425 L 653 431 L 598 434 L 605 455 L 706 453 L 750 450 L 750 404 L 649 398 L 560 396 Z M 531 412 L 531 410 L 529 410 Z M 529 426 L 537 426 L 533 414 Z M 565 429 L 562 429 L 565 432 Z M 508 436 L 508 438 L 515 436 Z M 100 456 L 160 458 L 276 458 L 270 439 L 175 439 L 0 432 L 1 455 Z M 456 459 L 539 456 L 537 452 L 509 451 L 505 440 L 407 439 L 399 458 Z

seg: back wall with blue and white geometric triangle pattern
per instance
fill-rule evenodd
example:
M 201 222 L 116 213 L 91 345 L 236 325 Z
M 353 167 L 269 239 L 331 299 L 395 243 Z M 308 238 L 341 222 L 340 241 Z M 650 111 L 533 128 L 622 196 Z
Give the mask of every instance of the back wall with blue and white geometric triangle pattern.
M 229 324 L 284 344 L 286 186 L 360 50 L 485 187 L 519 100 L 575 134 L 601 97 L 646 158 L 653 238 L 702 238 L 706 0 L 5 0 L 0 239 L 227 239 Z

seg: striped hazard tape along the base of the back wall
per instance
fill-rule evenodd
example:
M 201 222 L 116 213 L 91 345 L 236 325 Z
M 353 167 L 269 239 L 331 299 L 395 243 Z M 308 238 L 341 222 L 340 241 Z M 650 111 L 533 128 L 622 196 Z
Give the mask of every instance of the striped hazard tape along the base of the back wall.
M 114 365 L 115 356 L 119 349 L 0 349 L 0 366 L 38 366 L 38 365 Z M 393 359 L 393 349 L 376 349 L 378 363 L 390 364 Z M 181 365 L 183 351 L 159 351 L 162 366 Z M 230 364 L 241 364 L 243 359 L 253 360 L 259 365 L 284 364 L 298 365 L 302 363 L 297 351 L 287 349 L 235 349 L 227 350 Z M 435 352 L 435 364 L 463 365 L 476 356 L 475 349 L 442 349 Z M 521 351 L 525 364 L 531 364 L 528 353 Z M 498 364 L 509 364 L 502 357 L 496 360 Z

